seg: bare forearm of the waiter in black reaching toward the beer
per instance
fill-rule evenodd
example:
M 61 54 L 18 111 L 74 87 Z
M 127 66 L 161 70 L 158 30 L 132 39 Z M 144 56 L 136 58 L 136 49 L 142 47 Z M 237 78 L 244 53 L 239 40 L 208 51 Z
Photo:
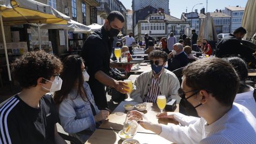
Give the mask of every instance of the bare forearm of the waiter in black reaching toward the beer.
M 107 74 L 103 73 L 103 71 L 101 70 L 97 71 L 94 77 L 104 85 L 111 86 L 111 87 L 114 87 L 115 85 L 115 79 L 109 77 Z

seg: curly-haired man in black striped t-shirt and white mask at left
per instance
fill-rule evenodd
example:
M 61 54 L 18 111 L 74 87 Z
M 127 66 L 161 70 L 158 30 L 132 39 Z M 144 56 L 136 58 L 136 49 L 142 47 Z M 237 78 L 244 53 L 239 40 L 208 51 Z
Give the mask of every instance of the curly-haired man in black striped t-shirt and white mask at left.
M 27 52 L 12 66 L 22 90 L 0 104 L 0 143 L 66 143 L 58 134 L 58 112 L 49 93 L 60 90 L 61 61 L 44 51 Z

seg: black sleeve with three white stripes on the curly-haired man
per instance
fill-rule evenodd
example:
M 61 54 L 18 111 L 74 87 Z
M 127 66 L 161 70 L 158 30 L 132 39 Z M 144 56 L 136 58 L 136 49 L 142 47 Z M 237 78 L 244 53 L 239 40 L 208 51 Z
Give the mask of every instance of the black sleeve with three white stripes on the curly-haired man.
M 16 97 L 12 97 L 6 101 L 3 106 L 0 108 L 0 143 L 19 143 L 19 134 L 18 130 L 15 129 L 15 123 L 9 119 L 11 110 L 17 105 L 20 100 Z M 11 139 L 15 138 L 14 139 Z

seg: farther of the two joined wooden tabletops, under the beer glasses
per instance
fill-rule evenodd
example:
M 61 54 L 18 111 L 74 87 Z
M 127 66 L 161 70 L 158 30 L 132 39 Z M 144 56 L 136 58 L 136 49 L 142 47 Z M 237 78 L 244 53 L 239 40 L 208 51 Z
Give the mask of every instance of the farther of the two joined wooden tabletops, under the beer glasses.
M 136 105 L 138 102 L 131 101 L 122 101 L 116 109 L 109 115 L 108 119 L 104 121 L 99 128 L 102 129 L 109 129 L 109 130 L 123 130 L 123 123 L 126 118 L 126 113 L 127 111 L 124 109 L 123 105 L 126 103 L 131 103 L 133 105 Z M 177 105 L 177 108 L 175 109 L 175 112 L 179 112 L 179 106 Z M 156 103 L 147 103 L 147 109 L 145 111 L 142 111 L 142 113 L 145 114 L 147 117 L 148 121 L 153 122 L 153 123 L 161 123 L 161 124 L 170 124 L 170 123 L 175 123 L 172 119 L 167 119 L 167 118 L 161 118 L 158 119 L 156 118 L 156 115 L 160 113 L 159 108 L 157 107 Z M 137 132 L 142 132 L 142 133 L 151 133 L 155 134 L 152 131 L 146 130 L 140 125 L 138 126 Z

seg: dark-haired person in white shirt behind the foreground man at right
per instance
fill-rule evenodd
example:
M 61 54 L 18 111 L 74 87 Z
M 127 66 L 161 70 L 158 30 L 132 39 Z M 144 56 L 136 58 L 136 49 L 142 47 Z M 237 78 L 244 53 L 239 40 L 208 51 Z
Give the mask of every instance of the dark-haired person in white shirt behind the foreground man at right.
M 254 117 L 256 117 L 256 102 L 253 98 L 254 89 L 253 87 L 245 84 L 248 76 L 248 70 L 245 62 L 238 57 L 227 58 L 227 60 L 235 68 L 240 79 L 238 91 L 234 102 L 245 106 L 251 111 Z

